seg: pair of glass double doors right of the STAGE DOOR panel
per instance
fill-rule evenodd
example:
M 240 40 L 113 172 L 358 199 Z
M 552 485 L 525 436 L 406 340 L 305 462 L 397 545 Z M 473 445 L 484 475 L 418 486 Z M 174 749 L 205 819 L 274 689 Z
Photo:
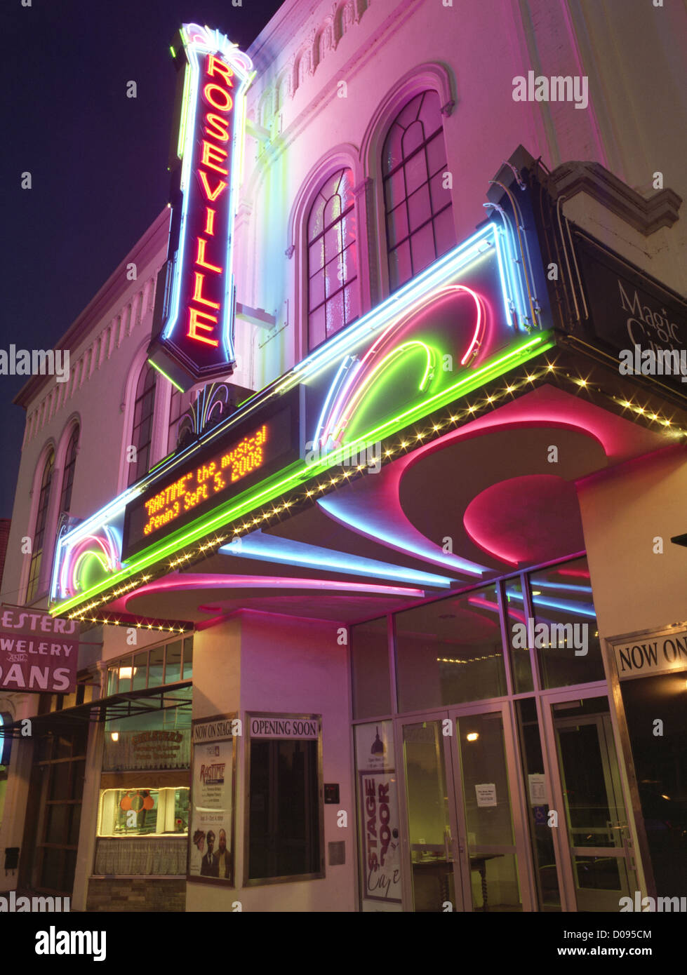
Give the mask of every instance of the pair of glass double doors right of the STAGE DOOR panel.
M 454 708 L 397 720 L 410 910 L 523 910 L 518 865 L 526 844 L 514 828 L 517 776 L 507 708 Z

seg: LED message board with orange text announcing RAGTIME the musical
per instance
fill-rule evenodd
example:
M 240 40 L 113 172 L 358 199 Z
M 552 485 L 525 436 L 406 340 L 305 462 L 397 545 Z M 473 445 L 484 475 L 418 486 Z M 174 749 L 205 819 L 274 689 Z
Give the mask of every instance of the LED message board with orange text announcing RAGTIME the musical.
M 230 427 L 127 505 L 123 560 L 297 460 L 299 440 L 298 395 Z

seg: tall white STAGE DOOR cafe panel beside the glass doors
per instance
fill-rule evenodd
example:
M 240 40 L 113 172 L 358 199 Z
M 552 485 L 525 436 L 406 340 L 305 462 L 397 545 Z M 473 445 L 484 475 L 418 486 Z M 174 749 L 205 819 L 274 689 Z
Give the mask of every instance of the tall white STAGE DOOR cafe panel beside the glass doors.
M 355 729 L 363 898 L 400 905 L 401 845 L 391 722 Z

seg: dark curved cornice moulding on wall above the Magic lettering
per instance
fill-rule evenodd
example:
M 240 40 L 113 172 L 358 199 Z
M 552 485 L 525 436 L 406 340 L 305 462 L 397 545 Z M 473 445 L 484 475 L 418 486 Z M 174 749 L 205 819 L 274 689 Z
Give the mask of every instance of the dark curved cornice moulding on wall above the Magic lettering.
M 563 163 L 550 173 L 547 186 L 554 200 L 586 193 L 645 237 L 661 227 L 671 227 L 682 203 L 682 198 L 668 188 L 644 197 L 600 163 Z

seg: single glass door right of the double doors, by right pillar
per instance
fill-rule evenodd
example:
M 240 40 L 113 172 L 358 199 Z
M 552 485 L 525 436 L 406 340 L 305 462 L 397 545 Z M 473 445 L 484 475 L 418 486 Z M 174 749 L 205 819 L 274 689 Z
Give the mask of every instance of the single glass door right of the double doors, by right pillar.
M 545 703 L 569 909 L 618 912 L 637 882 L 608 698 L 568 694 Z

